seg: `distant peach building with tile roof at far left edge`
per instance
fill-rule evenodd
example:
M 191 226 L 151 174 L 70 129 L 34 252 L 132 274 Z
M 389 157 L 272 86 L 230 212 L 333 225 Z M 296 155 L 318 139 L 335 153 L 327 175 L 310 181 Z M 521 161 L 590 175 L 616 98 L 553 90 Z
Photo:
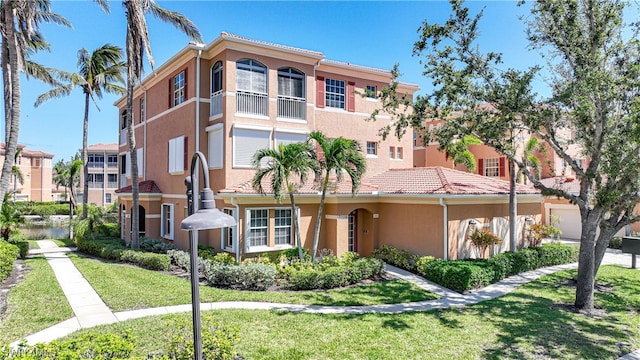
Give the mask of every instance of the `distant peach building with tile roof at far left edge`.
M 53 201 L 52 162 L 53 154 L 40 150 L 22 149 L 15 165 L 20 169 L 24 183 L 20 184 L 15 176 L 11 177 L 9 191 L 15 191 L 17 201 Z M 5 144 L 0 143 L 0 161 L 4 161 Z

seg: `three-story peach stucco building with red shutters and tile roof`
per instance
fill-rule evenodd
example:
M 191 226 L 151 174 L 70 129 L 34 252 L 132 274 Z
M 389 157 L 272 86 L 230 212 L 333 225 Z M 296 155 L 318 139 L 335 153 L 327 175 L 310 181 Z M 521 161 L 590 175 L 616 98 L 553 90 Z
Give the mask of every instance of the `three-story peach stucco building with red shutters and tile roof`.
M 320 130 L 329 138 L 359 141 L 368 166 L 355 196 L 348 181 L 327 194 L 320 249 L 370 255 L 382 244 L 396 244 L 419 254 L 470 256 L 458 241 L 460 234 L 466 240 L 466 227 L 460 227 L 476 223 L 502 231 L 502 221 L 495 219 L 508 214 L 508 183 L 450 169 L 412 169 L 411 137 L 382 140 L 378 129 L 391 118 L 381 114 L 377 122 L 365 121 L 381 104 L 357 94 L 377 92 L 391 78 L 390 71 L 228 33 L 207 45 L 185 47 L 134 91 L 141 235 L 188 247 L 188 234 L 179 224 L 187 215 L 184 178 L 198 149 L 207 156 L 218 208 L 238 221 L 234 228 L 201 231 L 201 243 L 238 258 L 289 248 L 294 246 L 293 215 L 299 218 L 303 245 L 311 248 L 318 189 L 306 184 L 297 196 L 298 211 L 291 214 L 287 200 L 280 204 L 273 196 L 259 195 L 249 181 L 256 171 L 251 167 L 256 150 L 305 141 Z M 408 96 L 417 90 L 406 83 L 398 88 Z M 121 125 L 117 194 L 122 236 L 128 240 L 126 99 L 115 105 Z M 520 214 L 539 218 L 542 197 L 537 191 L 519 188 L 518 201 Z

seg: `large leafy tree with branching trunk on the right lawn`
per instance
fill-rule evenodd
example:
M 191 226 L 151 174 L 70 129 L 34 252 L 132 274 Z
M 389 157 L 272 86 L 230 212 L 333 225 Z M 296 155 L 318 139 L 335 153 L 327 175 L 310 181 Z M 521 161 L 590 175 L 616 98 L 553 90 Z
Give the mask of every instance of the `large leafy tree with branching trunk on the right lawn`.
M 433 92 L 412 102 L 399 96 L 393 84 L 383 91 L 385 108 L 397 117 L 395 132 L 407 126 L 422 129 L 425 121 L 460 111 L 461 116 L 429 135 L 474 135 L 517 165 L 544 195 L 576 204 L 582 235 L 575 306 L 590 311 L 595 274 L 609 240 L 640 220 L 633 213 L 640 201 L 638 24 L 624 24 L 624 1 L 535 2 L 527 37 L 549 55 L 553 92 L 542 101 L 531 86 L 540 67 L 500 70 L 500 54 L 483 53 L 475 45 L 482 12 L 471 16 L 461 1 L 451 4 L 444 25 L 425 21 L 414 45 L 416 55 L 424 54 L 424 74 L 433 79 Z M 403 107 L 414 112 L 402 114 L 398 109 Z M 571 139 L 561 131 L 567 128 L 574 131 Z M 388 134 L 391 127 L 384 130 Z M 538 137 L 566 162 L 580 182 L 578 194 L 538 180 L 518 156 L 514 140 L 522 134 Z M 568 152 L 570 144 L 580 146 L 577 156 L 588 158 L 586 168 Z

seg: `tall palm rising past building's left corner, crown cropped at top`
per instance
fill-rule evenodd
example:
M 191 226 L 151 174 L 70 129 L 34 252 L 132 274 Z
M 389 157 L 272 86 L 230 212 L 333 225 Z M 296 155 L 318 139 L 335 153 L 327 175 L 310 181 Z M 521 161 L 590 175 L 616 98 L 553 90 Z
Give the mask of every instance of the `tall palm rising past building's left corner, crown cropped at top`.
M 155 0 L 124 0 L 122 5 L 125 8 L 127 17 L 127 139 L 129 143 L 129 153 L 131 154 L 131 197 L 132 209 L 138 209 L 138 158 L 136 151 L 135 131 L 133 128 L 133 87 L 142 77 L 143 51 L 146 52 L 147 60 L 153 69 L 154 61 L 151 54 L 151 42 L 149 41 L 149 29 L 145 13 L 151 12 L 156 18 L 167 22 L 187 36 L 196 41 L 202 41 L 200 32 L 191 20 L 182 14 L 169 11 L 159 7 Z M 196 129 L 199 131 L 199 129 Z M 197 149 L 196 149 L 197 150 Z M 138 211 L 131 212 L 131 247 L 138 248 L 140 223 Z

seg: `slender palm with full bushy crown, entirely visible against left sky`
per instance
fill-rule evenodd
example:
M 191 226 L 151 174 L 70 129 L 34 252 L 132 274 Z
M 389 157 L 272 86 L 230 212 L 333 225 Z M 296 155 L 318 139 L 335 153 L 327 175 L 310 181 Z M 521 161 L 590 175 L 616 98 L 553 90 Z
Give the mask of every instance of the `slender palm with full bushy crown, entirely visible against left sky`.
M 84 121 L 82 131 L 82 162 L 84 163 L 84 196 L 82 198 L 82 218 L 87 217 L 87 203 L 89 193 L 89 166 L 87 155 L 87 138 L 89 136 L 89 102 L 100 111 L 96 103 L 96 97 L 102 99 L 103 92 L 124 95 L 125 89 L 119 84 L 124 84 L 124 63 L 122 62 L 122 49 L 105 44 L 89 53 L 87 49 L 78 50 L 78 72 L 58 72 L 57 75 L 66 83 L 59 84 L 55 88 L 38 96 L 35 106 L 39 106 L 49 99 L 68 96 L 71 91 L 79 86 L 84 94 Z

